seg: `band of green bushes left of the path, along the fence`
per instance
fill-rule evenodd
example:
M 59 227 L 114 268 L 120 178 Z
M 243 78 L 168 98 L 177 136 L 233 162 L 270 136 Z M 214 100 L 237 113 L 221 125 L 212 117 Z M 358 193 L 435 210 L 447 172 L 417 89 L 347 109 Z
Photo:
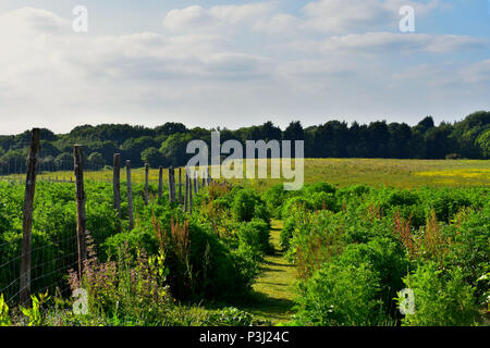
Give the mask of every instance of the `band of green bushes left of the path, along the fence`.
M 0 288 L 19 277 L 22 238 L 23 186 L 0 184 Z M 240 187 L 213 185 L 195 197 L 193 214 L 170 204 L 167 195 L 144 204 L 143 186 L 134 187 L 136 226 L 127 231 L 126 192 L 121 190 L 121 215 L 112 207 L 109 184 L 86 183 L 87 229 L 100 262 L 119 258 L 121 248 L 136 256 L 163 252 L 169 293 L 179 300 L 224 300 L 249 291 L 264 253 L 271 251 L 269 214 L 261 198 Z M 219 195 L 216 192 L 219 191 Z M 66 271 L 76 268 L 76 206 L 74 186 L 39 183 L 33 224 L 33 290 L 66 289 Z M 211 210 L 208 204 L 213 204 Z M 222 224 L 211 223 L 212 212 L 223 209 Z M 220 235 L 219 229 L 226 229 Z M 37 266 L 41 264 L 42 266 Z M 12 297 L 19 284 L 5 296 Z M 8 289 L 9 290 L 9 289 Z M 68 294 L 69 295 L 69 294 Z

